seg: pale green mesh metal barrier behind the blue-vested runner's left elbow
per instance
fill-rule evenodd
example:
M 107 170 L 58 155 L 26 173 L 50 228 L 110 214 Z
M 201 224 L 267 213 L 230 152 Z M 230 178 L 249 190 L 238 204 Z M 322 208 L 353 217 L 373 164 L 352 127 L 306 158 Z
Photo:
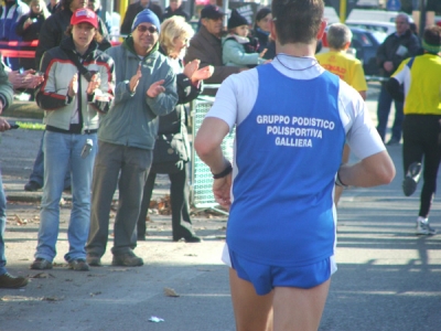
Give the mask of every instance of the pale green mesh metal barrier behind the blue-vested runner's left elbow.
M 201 128 L 202 121 L 205 118 L 206 113 L 209 110 L 214 102 L 214 97 L 198 97 L 192 103 L 192 127 L 193 138 L 196 136 L 197 130 Z M 229 132 L 225 137 L 222 143 L 222 150 L 225 157 L 229 160 L 233 159 L 233 146 L 234 146 L 234 131 Z M 213 209 L 218 212 L 225 213 L 224 211 L 217 210 L 218 203 L 215 201 L 213 195 L 213 174 L 209 168 L 197 157 L 192 148 L 192 164 L 191 164 L 191 203 L 196 209 Z M 225 213 L 227 214 L 227 213 Z

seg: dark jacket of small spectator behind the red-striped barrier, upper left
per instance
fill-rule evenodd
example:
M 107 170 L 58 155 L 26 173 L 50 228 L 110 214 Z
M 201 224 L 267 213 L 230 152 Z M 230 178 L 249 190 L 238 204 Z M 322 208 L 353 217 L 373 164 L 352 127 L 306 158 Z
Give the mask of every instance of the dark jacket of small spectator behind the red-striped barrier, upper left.
M 28 29 L 23 29 L 24 22 L 31 19 L 32 24 L 28 26 Z M 19 20 L 19 23 L 15 28 L 15 33 L 22 38 L 23 41 L 25 42 L 31 42 L 34 40 L 39 40 L 40 38 L 40 30 L 43 26 L 43 23 L 45 21 L 45 17 L 43 14 L 34 13 L 31 11 L 30 13 L 22 15 L 21 19 Z M 33 51 L 34 47 L 32 46 L 22 46 L 22 51 Z M 35 68 L 35 60 L 34 58 L 29 58 L 29 57 L 20 57 L 20 67 L 23 67 L 25 70 L 29 68 Z

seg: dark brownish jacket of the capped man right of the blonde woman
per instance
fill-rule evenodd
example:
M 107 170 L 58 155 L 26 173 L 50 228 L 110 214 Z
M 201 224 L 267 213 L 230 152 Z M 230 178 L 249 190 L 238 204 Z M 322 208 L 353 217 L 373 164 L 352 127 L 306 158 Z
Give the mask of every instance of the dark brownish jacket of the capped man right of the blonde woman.
M 201 60 L 200 67 L 214 66 L 213 76 L 204 81 L 206 84 L 220 84 L 229 75 L 240 72 L 239 67 L 223 65 L 222 41 L 211 34 L 204 25 L 201 25 L 201 30 L 190 41 L 185 63 L 195 58 Z

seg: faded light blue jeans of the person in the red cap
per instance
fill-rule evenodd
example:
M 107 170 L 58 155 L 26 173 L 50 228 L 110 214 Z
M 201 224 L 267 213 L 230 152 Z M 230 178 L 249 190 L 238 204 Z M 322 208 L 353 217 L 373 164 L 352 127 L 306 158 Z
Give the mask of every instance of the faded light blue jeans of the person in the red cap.
M 88 157 L 80 153 L 86 139 L 94 147 Z M 46 131 L 43 141 L 44 186 L 40 213 L 39 244 L 35 258 L 52 261 L 56 255 L 60 226 L 60 200 L 64 189 L 64 177 L 69 170 L 72 178 L 72 212 L 67 228 L 69 252 L 66 261 L 85 258 L 85 244 L 90 224 L 92 171 L 97 151 L 97 135 L 71 135 Z

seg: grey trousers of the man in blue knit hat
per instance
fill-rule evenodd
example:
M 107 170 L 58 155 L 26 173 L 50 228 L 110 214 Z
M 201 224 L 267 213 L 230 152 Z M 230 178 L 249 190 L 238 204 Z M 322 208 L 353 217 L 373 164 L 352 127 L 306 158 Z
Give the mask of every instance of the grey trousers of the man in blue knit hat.
M 90 231 L 87 254 L 103 256 L 109 235 L 109 213 L 115 190 L 119 189 L 114 227 L 114 255 L 129 253 L 137 246 L 133 236 L 142 201 L 152 150 L 98 141 L 92 184 Z M 119 175 L 119 181 L 118 181 Z

